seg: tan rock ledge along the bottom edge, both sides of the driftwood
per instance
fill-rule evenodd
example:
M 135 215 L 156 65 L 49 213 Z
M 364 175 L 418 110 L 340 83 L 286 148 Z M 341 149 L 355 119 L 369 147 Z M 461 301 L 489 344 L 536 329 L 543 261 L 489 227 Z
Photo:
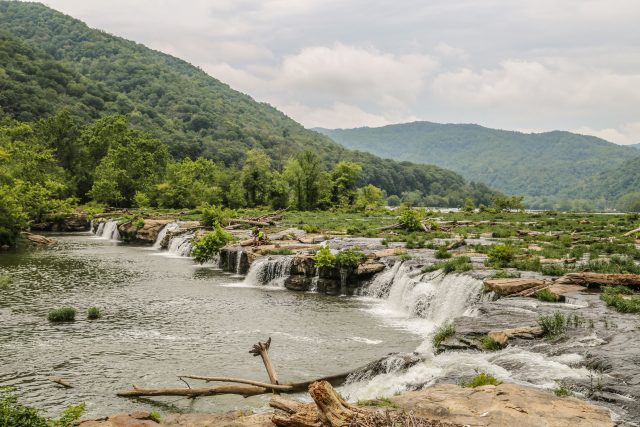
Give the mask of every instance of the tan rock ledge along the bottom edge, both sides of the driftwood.
M 376 401 L 366 402 L 366 410 L 380 413 L 404 413 L 417 426 L 518 426 L 518 427 L 607 427 L 613 426 L 609 412 L 599 406 L 574 397 L 558 397 L 549 392 L 516 384 L 464 388 L 455 384 L 438 384 L 420 391 L 395 396 L 385 401 L 385 408 L 376 408 Z M 318 402 L 316 402 L 318 403 Z M 308 406 L 297 404 L 308 410 Z M 272 405 L 276 407 L 288 407 Z M 296 408 L 297 409 L 297 408 Z M 322 409 L 322 408 L 321 408 Z M 356 412 L 358 409 L 356 409 Z M 115 415 L 99 420 L 83 421 L 81 427 L 272 427 L 272 426 L 342 426 L 365 425 L 355 420 L 338 424 L 325 420 L 310 424 L 309 419 L 276 412 L 256 414 L 233 411 L 222 415 L 171 414 L 153 421 L 151 414 L 137 412 Z M 308 412 L 307 412 L 308 414 Z M 290 418 L 286 419 L 289 416 Z M 284 423 L 286 420 L 286 423 Z M 383 425 L 383 424 L 376 424 Z

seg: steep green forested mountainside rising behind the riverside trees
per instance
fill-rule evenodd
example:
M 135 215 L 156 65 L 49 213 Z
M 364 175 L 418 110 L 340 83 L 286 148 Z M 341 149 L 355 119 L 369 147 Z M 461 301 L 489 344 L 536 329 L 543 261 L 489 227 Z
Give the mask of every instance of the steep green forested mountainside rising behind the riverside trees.
M 42 4 L 0 1 L 0 109 L 23 121 L 61 106 L 87 122 L 122 114 L 159 138 L 177 159 L 203 156 L 240 167 L 247 151 L 267 153 L 275 169 L 303 150 L 331 167 L 362 164 L 361 183 L 389 195 L 420 191 L 441 203 L 486 202 L 484 185 L 436 166 L 394 162 L 344 149 L 280 111 L 231 89 L 185 61 L 94 30 Z

